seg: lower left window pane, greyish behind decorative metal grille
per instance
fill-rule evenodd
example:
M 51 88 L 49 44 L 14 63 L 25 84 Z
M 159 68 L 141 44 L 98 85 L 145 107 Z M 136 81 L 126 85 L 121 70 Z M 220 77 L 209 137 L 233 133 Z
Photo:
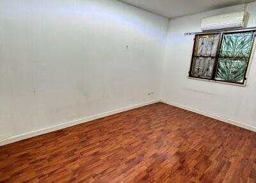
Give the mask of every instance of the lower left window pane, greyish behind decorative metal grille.
M 193 76 L 211 79 L 215 58 L 194 58 Z

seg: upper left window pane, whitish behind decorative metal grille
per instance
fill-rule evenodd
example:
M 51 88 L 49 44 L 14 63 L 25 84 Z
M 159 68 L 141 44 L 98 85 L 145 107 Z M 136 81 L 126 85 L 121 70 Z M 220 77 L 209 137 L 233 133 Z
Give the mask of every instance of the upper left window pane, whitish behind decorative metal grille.
M 196 40 L 196 56 L 216 56 L 220 35 L 198 35 Z

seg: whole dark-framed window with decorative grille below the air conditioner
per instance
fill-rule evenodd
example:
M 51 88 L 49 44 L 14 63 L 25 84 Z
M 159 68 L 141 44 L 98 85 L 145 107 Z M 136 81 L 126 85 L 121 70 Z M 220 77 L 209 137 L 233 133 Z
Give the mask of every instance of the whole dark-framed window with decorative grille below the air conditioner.
M 189 77 L 244 84 L 255 31 L 195 36 Z

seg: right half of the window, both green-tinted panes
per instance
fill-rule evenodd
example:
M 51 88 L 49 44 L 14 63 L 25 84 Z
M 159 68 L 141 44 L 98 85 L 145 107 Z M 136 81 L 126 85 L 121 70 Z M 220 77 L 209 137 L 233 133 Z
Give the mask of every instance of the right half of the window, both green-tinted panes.
M 243 83 L 254 32 L 231 33 L 223 36 L 216 79 Z

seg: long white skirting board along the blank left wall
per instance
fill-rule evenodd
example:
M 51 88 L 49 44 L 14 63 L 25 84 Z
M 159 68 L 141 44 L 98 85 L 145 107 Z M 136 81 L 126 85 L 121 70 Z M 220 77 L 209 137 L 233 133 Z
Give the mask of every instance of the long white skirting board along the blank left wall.
M 72 121 L 72 122 L 62 123 L 60 125 L 47 127 L 45 129 L 40 129 L 38 131 L 32 131 L 32 132 L 28 132 L 28 133 L 25 133 L 25 134 L 12 136 L 10 138 L 0 139 L 0 146 L 6 145 L 6 144 L 9 144 L 9 143 L 13 143 L 13 142 L 16 142 L 16 141 L 20 141 L 22 139 L 28 139 L 28 138 L 39 136 L 39 135 L 42 135 L 42 134 L 46 134 L 48 132 L 58 131 L 60 129 L 65 129 L 67 127 L 71 127 L 71 126 L 78 125 L 78 124 L 85 123 L 85 122 L 90 122 L 92 120 L 97 120 L 99 118 L 104 118 L 106 116 L 115 115 L 116 113 L 122 113 L 124 111 L 128 111 L 128 110 L 135 109 L 135 108 L 142 107 L 142 106 L 147 106 L 147 105 L 154 104 L 154 103 L 157 103 L 157 102 L 160 102 L 160 100 L 151 100 L 149 102 L 144 102 L 144 103 L 141 103 L 141 104 L 135 104 L 133 106 L 124 107 L 124 108 L 121 108 L 121 109 L 115 109 L 113 111 L 108 111 L 106 113 L 100 113 L 98 115 L 88 116 L 88 117 L 80 119 L 80 120 L 75 120 L 75 121 Z

